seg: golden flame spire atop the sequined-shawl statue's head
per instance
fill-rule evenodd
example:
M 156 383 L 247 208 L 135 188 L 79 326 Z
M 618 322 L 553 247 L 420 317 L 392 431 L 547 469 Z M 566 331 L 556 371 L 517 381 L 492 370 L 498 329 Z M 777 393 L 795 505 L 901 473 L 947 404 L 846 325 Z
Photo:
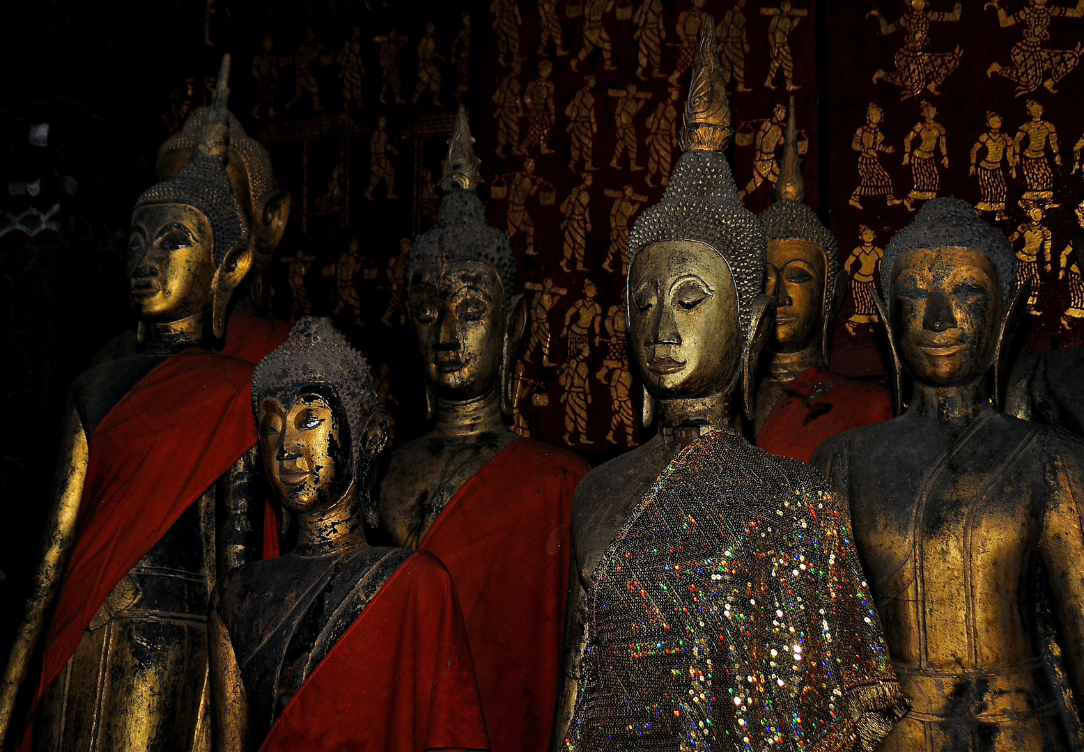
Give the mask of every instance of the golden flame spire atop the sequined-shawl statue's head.
M 700 24 L 700 43 L 685 100 L 685 127 L 678 141 L 685 152 L 723 152 L 733 135 L 731 103 L 719 66 L 715 20 L 707 14 Z

